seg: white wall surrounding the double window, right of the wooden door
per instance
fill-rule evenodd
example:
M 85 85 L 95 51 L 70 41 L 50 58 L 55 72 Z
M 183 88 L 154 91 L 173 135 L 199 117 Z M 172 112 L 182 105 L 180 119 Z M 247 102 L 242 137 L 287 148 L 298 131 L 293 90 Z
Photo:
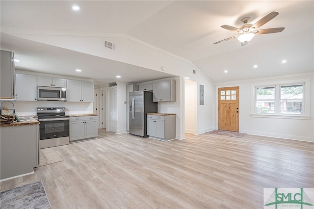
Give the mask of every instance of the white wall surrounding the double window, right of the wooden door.
M 310 100 L 310 119 L 300 119 L 300 118 L 265 118 L 265 117 L 252 117 L 251 116 L 251 84 L 255 84 L 262 81 L 267 82 L 282 82 L 285 80 L 299 79 L 299 78 L 311 78 L 311 89 L 310 93 L 307 94 L 308 97 L 305 100 Z M 239 96 L 239 132 L 270 136 L 277 138 L 294 139 L 301 141 L 314 142 L 314 75 L 305 76 L 283 76 L 276 78 L 261 78 L 260 80 L 247 80 L 241 81 L 241 83 L 229 83 L 224 85 L 218 85 L 218 87 L 223 86 L 236 86 L 238 85 L 240 90 Z M 216 105 L 218 98 L 216 97 Z M 216 115 L 216 120 L 217 120 Z

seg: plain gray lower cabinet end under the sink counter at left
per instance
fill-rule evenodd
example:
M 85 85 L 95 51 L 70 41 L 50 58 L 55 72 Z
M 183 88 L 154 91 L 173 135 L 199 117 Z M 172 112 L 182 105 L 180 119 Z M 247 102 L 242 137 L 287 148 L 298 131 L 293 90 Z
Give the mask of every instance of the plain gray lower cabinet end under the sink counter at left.
M 0 179 L 33 172 L 39 163 L 39 125 L 0 128 Z

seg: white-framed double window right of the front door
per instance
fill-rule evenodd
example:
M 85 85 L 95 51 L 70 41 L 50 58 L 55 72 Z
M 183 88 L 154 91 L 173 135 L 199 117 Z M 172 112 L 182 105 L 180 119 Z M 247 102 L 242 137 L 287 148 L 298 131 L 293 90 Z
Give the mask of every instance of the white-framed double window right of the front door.
M 252 116 L 309 116 L 310 79 L 252 84 L 251 90 Z

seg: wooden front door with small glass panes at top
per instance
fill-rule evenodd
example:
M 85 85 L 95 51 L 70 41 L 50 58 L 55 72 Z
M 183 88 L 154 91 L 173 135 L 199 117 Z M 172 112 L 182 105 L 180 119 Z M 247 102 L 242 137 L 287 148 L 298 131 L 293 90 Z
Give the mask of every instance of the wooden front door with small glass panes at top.
M 239 132 L 239 87 L 218 88 L 218 129 Z

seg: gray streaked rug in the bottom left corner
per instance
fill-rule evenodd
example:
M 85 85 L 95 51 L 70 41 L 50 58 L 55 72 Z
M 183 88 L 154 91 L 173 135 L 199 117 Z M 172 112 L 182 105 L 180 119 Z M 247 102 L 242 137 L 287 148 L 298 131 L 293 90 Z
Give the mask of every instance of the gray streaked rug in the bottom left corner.
M 0 193 L 1 209 L 50 209 L 41 181 L 15 187 Z

